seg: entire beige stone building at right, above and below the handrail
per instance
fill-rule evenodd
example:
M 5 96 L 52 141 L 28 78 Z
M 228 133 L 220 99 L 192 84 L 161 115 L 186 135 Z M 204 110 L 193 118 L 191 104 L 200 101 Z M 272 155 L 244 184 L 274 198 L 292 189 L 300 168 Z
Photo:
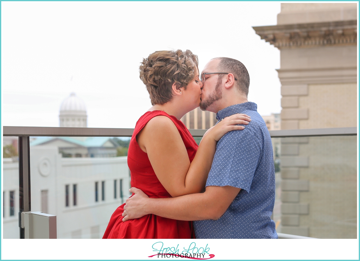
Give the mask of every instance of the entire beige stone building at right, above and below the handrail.
M 356 3 L 284 3 L 254 29 L 280 50 L 281 129 L 357 126 Z M 279 232 L 356 238 L 356 173 L 356 136 L 282 138 Z

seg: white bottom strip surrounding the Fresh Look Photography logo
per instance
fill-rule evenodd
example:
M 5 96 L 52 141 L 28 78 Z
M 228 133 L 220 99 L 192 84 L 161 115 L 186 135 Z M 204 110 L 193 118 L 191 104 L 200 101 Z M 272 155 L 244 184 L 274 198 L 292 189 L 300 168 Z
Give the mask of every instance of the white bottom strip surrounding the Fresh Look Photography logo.
M 158 241 L 169 247 L 179 244 L 179 249 L 192 242 L 197 247 L 208 244 L 215 255 L 210 260 L 359 260 L 357 239 L 3 239 L 1 259 L 192 260 L 149 258 L 156 254 L 152 245 Z

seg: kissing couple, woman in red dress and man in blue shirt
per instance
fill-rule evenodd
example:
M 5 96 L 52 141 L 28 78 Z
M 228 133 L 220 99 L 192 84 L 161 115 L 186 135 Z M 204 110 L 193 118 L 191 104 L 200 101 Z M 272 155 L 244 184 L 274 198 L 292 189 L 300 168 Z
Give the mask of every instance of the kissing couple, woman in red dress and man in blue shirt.
M 140 79 L 153 106 L 129 145 L 132 196 L 103 238 L 278 238 L 273 147 L 246 67 L 218 57 L 199 73 L 190 50 L 156 51 Z M 218 122 L 198 146 L 180 119 L 199 106 Z

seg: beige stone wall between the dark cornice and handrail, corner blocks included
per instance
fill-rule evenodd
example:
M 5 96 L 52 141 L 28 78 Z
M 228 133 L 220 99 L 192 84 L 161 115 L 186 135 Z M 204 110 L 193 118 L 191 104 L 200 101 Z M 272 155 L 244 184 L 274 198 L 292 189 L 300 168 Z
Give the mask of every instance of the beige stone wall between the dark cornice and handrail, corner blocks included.
M 282 129 L 356 127 L 356 45 L 282 49 L 280 63 Z

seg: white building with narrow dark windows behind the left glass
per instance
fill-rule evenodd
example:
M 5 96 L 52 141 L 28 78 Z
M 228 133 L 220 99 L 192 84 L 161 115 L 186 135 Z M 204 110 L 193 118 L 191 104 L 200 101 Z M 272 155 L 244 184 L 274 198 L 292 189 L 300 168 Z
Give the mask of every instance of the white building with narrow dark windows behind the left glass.
M 62 158 L 57 147 L 30 148 L 31 211 L 57 216 L 58 238 L 101 238 L 129 197 L 127 157 Z M 19 238 L 19 162 L 4 159 L 3 236 Z

